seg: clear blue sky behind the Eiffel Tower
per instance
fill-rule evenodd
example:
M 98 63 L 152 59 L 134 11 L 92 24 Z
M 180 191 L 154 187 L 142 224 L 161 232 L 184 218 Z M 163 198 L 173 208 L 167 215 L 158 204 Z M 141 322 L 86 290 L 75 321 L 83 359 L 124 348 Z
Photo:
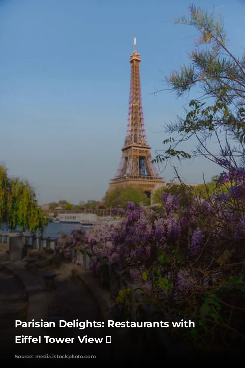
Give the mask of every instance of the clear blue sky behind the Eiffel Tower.
M 161 88 L 187 62 L 195 30 L 174 25 L 186 0 L 0 0 L 0 161 L 29 180 L 40 203 L 100 200 L 119 165 L 127 126 L 133 37 L 142 55 L 148 143 L 186 101 Z M 230 49 L 244 52 L 245 1 L 201 0 L 223 14 Z M 163 167 L 160 167 L 163 170 Z M 187 182 L 219 173 L 205 160 L 179 166 Z M 161 175 L 172 180 L 168 165 Z

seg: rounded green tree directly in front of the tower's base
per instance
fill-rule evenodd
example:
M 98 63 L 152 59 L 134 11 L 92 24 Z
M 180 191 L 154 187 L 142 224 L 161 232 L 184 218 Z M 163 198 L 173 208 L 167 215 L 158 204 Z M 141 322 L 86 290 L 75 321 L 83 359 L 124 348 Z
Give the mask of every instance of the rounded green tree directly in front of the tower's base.
M 150 199 L 138 188 L 118 186 L 109 191 L 104 198 L 106 208 L 114 208 L 116 206 L 124 207 L 129 201 L 143 203 L 145 206 L 150 205 Z

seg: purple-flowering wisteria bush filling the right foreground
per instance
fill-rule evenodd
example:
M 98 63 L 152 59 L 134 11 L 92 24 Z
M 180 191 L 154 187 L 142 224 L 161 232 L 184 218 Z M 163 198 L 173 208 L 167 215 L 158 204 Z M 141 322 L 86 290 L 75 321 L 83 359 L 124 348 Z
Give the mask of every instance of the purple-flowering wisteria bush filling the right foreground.
M 230 185 L 232 182 L 232 185 Z M 98 223 L 76 242 L 90 247 L 91 267 L 106 256 L 142 283 L 146 300 L 170 320 L 191 319 L 195 329 L 169 329 L 172 339 L 196 347 L 239 346 L 245 336 L 245 170 L 224 173 L 216 186 L 226 193 L 209 200 L 164 194 L 155 212 L 129 202 L 114 222 Z M 130 293 L 122 290 L 115 310 L 128 317 Z M 211 342 L 211 343 L 210 343 Z M 217 344 L 217 346 L 215 345 Z

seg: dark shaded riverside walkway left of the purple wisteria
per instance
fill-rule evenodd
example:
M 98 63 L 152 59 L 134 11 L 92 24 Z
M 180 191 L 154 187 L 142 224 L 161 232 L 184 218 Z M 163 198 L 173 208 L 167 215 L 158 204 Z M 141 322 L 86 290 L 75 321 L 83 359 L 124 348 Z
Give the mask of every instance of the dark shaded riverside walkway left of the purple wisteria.
M 12 268 L 11 268 L 12 267 Z M 15 267 L 15 268 L 13 268 Z M 107 321 L 101 312 L 98 300 L 92 291 L 78 277 L 73 276 L 73 263 L 47 265 L 42 268 L 26 270 L 25 262 L 13 265 L 8 261 L 7 244 L 0 244 L 0 353 L 1 356 L 42 355 L 53 356 L 94 356 L 99 359 L 116 357 L 122 354 L 122 348 L 132 350 L 132 342 L 125 339 L 122 329 L 107 328 Z M 12 271 L 11 271 L 12 269 Z M 18 271 L 18 272 L 17 272 Z M 54 272 L 55 289 L 45 289 L 44 273 Z M 16 274 L 18 274 L 16 276 Z M 91 276 L 92 277 L 92 276 Z M 21 278 L 29 285 L 19 280 Z M 30 291 L 31 290 L 31 291 Z M 29 292 L 29 298 L 28 298 Z M 36 302 L 35 302 L 36 298 Z M 38 299 L 39 298 L 39 299 Z M 34 301 L 34 307 L 31 306 Z M 35 319 L 58 318 L 65 321 L 78 319 L 83 321 L 104 322 L 103 328 L 15 328 L 15 320 L 31 321 Z M 121 330 L 121 331 L 119 331 Z M 124 329 L 123 329 L 124 330 Z M 26 343 L 16 344 L 15 336 L 39 335 L 52 338 L 74 338 L 73 343 Z M 83 338 L 103 338 L 102 343 L 81 343 Z M 111 336 L 111 343 L 106 343 Z M 130 353 L 130 355 L 132 355 Z

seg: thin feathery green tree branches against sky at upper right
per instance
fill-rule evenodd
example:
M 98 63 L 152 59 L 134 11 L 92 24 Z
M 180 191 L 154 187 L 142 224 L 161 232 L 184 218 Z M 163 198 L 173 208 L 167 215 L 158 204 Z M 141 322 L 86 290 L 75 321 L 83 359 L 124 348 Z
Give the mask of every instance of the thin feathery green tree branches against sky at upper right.
M 245 54 L 238 58 L 228 50 L 222 19 L 215 19 L 213 12 L 195 5 L 189 12 L 189 18 L 175 23 L 196 28 L 199 38 L 189 54 L 190 65 L 172 72 L 167 83 L 178 96 L 193 87 L 201 92 L 190 101 L 184 119 L 167 125 L 166 131 L 175 136 L 163 142 L 169 147 L 155 161 L 202 156 L 224 169 L 236 167 L 245 157 Z M 181 143 L 192 137 L 197 141 L 194 151 L 181 150 Z M 211 138 L 218 152 L 209 146 Z

